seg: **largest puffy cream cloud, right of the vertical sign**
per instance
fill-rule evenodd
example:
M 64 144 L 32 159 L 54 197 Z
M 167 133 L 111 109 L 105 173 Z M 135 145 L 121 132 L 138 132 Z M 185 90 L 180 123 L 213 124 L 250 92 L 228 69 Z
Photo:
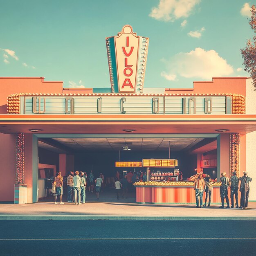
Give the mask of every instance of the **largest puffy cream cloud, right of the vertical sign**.
M 195 48 L 191 52 L 180 52 L 169 61 L 163 60 L 169 74 L 179 74 L 186 78 L 211 79 L 214 76 L 227 76 L 234 72 L 233 67 L 214 50 Z

